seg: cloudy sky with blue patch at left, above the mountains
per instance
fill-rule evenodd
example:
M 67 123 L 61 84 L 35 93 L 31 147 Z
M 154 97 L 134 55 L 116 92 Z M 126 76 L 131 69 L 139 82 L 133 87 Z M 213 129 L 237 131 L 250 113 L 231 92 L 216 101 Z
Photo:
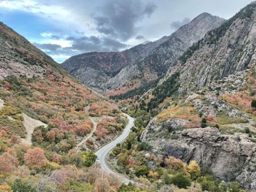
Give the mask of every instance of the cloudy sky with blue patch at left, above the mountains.
M 251 0 L 0 0 L 0 21 L 63 62 L 172 34 L 198 14 L 229 19 Z

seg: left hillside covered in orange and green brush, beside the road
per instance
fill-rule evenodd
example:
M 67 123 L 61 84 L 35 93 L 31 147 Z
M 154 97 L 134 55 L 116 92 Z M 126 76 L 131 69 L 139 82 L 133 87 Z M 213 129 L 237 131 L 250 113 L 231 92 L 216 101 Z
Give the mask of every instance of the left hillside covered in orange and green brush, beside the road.
M 125 127 L 121 111 L 3 23 L 0 50 L 0 191 L 119 188 L 92 165 Z

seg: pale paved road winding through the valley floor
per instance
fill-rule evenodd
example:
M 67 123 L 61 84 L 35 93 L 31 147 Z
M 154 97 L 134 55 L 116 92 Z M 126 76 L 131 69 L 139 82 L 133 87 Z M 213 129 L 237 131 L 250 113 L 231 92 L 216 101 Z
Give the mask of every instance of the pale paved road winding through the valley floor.
M 119 173 L 113 171 L 112 169 L 110 169 L 110 167 L 106 163 L 106 157 L 107 157 L 108 153 L 116 147 L 117 143 L 123 142 L 128 137 L 128 135 L 131 131 L 131 128 L 134 126 L 134 118 L 132 118 L 131 116 L 129 116 L 127 114 L 124 114 L 124 115 L 127 116 L 129 122 L 126 125 L 123 133 L 118 138 L 116 138 L 114 141 L 108 143 L 106 146 L 99 149 L 95 154 L 98 156 L 97 161 L 100 162 L 103 170 L 105 170 L 108 173 L 117 175 L 119 178 L 121 178 L 123 183 L 128 184 L 129 182 L 133 183 L 133 181 L 124 177 L 122 174 L 119 174 Z

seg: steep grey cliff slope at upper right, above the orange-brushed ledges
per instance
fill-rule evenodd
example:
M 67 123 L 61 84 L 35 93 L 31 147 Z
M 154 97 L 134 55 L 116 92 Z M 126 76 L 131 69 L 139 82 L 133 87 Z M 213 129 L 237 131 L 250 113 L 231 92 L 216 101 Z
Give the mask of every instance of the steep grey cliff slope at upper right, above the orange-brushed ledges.
M 164 79 L 179 72 L 179 93 L 183 94 L 196 87 L 209 85 L 215 79 L 252 67 L 256 58 L 255 7 L 255 3 L 246 6 L 221 27 L 207 33 L 178 62 L 170 63 Z

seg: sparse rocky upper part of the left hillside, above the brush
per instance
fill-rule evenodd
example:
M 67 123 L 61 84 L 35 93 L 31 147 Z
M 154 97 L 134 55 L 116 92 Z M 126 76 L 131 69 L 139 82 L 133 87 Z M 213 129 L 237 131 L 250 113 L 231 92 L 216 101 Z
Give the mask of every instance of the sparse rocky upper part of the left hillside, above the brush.
M 67 75 L 52 58 L 2 22 L 0 22 L 0 66 L 0 79 L 9 75 L 42 77 L 47 67 Z

